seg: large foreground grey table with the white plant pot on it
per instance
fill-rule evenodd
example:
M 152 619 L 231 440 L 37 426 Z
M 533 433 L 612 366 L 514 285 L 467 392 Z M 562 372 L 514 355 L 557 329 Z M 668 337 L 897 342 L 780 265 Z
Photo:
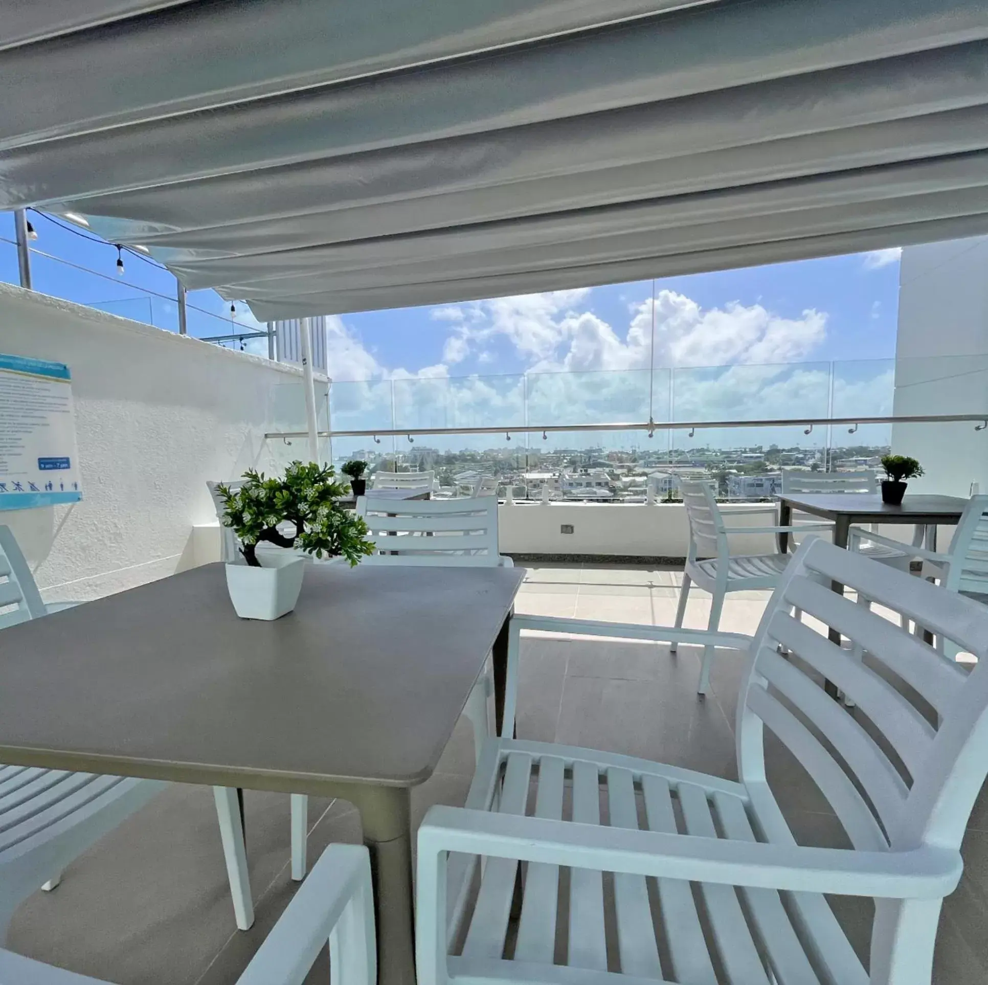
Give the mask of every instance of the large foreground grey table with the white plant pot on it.
M 275 622 L 208 564 L 0 639 L 0 762 L 335 796 L 371 851 L 382 985 L 415 980 L 411 788 L 496 647 L 521 568 L 314 564 Z

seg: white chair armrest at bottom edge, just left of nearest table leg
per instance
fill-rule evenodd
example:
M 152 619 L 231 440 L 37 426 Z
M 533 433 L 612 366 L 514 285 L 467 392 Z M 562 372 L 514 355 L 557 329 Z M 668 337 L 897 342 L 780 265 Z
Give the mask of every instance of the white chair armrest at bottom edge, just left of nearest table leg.
M 356 919 L 345 922 L 347 936 L 334 935 L 352 906 Z M 300 982 L 327 942 L 335 966 L 358 972 L 347 976 L 350 985 L 373 985 L 377 952 L 371 862 L 362 845 L 330 845 L 323 852 L 237 983 Z

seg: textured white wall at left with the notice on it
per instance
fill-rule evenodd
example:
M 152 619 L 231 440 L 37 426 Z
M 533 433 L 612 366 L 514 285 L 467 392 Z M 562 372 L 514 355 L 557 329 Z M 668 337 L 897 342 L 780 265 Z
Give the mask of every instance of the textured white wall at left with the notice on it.
M 0 352 L 72 373 L 82 502 L 0 512 L 48 601 L 202 560 L 193 527 L 215 521 L 206 479 L 304 454 L 304 442 L 264 438 L 304 429 L 298 369 L 3 284 Z

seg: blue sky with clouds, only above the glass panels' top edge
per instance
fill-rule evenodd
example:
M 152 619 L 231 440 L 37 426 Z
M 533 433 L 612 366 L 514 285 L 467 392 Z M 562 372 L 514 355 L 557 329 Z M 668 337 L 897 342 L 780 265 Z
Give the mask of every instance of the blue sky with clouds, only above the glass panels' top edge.
M 36 256 L 36 289 L 177 328 L 174 303 L 139 289 L 173 296 L 175 281 L 167 271 L 124 254 L 125 275 L 117 278 L 113 246 L 89 242 L 37 213 L 32 219 L 38 249 L 108 275 L 99 278 Z M 0 213 L 0 237 L 14 238 L 10 213 Z M 879 251 L 658 280 L 655 293 L 663 301 L 656 365 L 891 358 L 898 275 L 897 252 Z M 17 281 L 14 247 L 4 242 L 0 280 Z M 536 294 L 517 303 L 344 315 L 331 320 L 330 372 L 337 379 L 360 379 L 647 367 L 640 335 L 650 332 L 652 289 L 652 282 L 639 282 Z M 191 334 L 236 330 L 229 303 L 214 291 L 191 292 L 189 300 L 209 312 L 190 312 Z M 237 325 L 257 327 L 244 304 L 237 308 Z

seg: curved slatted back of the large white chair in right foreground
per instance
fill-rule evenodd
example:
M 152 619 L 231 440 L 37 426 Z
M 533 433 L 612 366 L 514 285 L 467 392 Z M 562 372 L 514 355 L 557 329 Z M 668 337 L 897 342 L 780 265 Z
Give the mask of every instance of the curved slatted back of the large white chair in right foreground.
M 769 840 L 791 844 L 766 780 L 768 727 L 827 798 L 855 849 L 959 850 L 988 772 L 988 608 L 818 538 L 804 546 L 759 626 L 738 702 L 738 774 L 759 823 Z M 980 662 L 968 675 L 922 638 L 831 591 L 832 582 L 945 634 Z M 852 649 L 797 621 L 793 608 L 839 629 Z M 862 651 L 864 662 L 855 657 Z M 822 677 L 854 700 L 854 713 L 826 694 Z M 798 894 L 793 901 L 801 905 Z M 922 969 L 933 959 L 941 901 L 875 904 L 870 981 L 928 981 Z

